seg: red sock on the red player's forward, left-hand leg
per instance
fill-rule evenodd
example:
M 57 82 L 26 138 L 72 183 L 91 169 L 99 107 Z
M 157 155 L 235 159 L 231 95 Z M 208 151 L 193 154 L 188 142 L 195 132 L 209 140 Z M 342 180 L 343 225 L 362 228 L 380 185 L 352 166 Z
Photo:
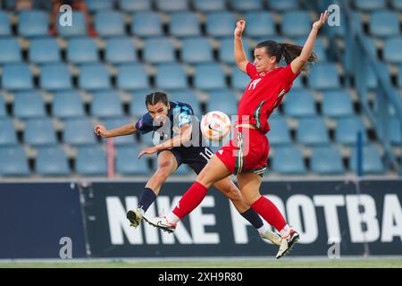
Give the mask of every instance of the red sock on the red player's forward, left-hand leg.
M 184 193 L 183 197 L 180 198 L 179 204 L 173 209 L 173 214 L 176 214 L 180 219 L 182 219 L 187 214 L 191 213 L 206 196 L 208 189 L 206 189 L 199 182 L 194 182 L 194 184 Z

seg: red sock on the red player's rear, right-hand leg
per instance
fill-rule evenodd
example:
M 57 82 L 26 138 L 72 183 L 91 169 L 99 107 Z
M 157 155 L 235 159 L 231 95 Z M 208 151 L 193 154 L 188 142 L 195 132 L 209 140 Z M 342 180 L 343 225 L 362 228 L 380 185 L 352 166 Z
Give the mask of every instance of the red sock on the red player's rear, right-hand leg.
M 261 196 L 251 207 L 260 214 L 267 223 L 270 223 L 277 231 L 281 231 L 286 225 L 285 218 L 278 207 L 272 204 L 268 198 Z

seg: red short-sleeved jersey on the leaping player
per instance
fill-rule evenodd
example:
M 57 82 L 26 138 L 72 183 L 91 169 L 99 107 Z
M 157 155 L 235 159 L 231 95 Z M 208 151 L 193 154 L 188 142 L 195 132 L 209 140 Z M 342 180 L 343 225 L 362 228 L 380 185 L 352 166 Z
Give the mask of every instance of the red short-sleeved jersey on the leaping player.
M 290 63 L 261 73 L 256 71 L 253 63 L 247 63 L 247 75 L 251 81 L 239 101 L 238 123 L 253 124 L 266 133 L 270 130 L 268 117 L 281 104 L 298 74 L 293 73 Z

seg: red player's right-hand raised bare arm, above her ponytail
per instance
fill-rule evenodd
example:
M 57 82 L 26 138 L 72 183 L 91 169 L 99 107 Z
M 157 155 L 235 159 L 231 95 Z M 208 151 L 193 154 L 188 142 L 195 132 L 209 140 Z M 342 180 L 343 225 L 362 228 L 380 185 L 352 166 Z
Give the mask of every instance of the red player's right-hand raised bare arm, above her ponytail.
M 328 16 L 329 13 L 328 11 L 325 10 L 325 12 L 321 14 L 320 20 L 314 22 L 313 29 L 311 29 L 310 34 L 308 35 L 308 38 L 306 40 L 306 44 L 305 46 L 303 46 L 300 55 L 297 56 L 297 58 L 290 63 L 293 73 L 295 74 L 299 73 L 302 70 L 305 63 L 307 63 L 308 58 L 311 55 L 311 52 L 313 52 L 314 41 L 315 38 L 317 37 L 318 30 L 322 27 L 325 21 L 327 21 Z

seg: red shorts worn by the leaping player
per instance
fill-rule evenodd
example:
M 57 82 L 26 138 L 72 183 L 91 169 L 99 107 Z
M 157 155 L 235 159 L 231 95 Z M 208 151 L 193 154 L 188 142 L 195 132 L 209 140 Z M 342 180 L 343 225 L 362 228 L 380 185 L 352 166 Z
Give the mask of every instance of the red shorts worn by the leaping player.
M 261 177 L 266 170 L 270 145 L 265 134 L 251 128 L 234 130 L 234 138 L 215 155 L 228 167 L 230 172 L 255 172 Z

